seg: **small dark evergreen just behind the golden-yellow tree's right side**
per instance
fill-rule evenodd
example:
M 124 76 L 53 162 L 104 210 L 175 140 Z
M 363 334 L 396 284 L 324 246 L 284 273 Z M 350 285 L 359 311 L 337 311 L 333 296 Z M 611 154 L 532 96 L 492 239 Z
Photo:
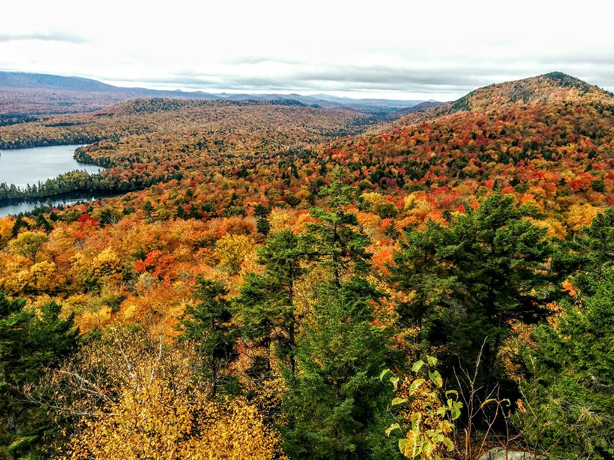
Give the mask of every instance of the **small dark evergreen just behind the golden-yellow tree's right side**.
M 225 369 L 238 353 L 236 340 L 238 329 L 231 324 L 233 309 L 222 283 L 196 277 L 195 298 L 198 305 L 185 307 L 179 318 L 182 334 L 179 340 L 192 340 L 198 345 L 203 359 L 203 372 L 211 378 L 211 394 L 215 396 L 226 382 Z

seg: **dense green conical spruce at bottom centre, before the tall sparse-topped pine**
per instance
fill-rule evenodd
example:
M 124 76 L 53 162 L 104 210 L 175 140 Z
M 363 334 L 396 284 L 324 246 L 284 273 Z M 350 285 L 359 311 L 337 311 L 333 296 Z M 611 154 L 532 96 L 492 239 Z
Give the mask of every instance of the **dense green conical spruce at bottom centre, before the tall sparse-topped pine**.
M 298 345 L 297 374 L 286 375 L 284 407 L 293 424 L 282 430 L 291 458 L 367 458 L 370 438 L 381 438 L 376 415 L 390 389 L 379 374 L 388 366 L 389 331 L 373 324 L 377 296 L 360 278 L 319 289 L 314 321 L 304 324 Z

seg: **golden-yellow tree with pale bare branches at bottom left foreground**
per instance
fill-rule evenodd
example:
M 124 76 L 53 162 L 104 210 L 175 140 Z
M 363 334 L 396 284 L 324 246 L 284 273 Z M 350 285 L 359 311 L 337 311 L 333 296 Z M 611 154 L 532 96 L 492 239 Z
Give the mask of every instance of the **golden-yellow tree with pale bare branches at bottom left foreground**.
M 56 399 L 85 417 L 64 460 L 282 459 L 257 407 L 211 401 L 193 374 L 193 347 L 143 332 L 108 331 L 52 375 Z M 69 393 L 69 394 L 68 394 Z

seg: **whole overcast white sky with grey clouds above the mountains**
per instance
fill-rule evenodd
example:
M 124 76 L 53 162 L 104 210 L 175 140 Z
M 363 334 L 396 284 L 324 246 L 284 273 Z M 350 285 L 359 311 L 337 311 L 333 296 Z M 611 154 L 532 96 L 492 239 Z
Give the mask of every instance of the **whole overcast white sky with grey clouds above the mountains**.
M 604 0 L 5 1 L 0 70 L 440 101 L 562 71 L 614 91 L 613 13 Z

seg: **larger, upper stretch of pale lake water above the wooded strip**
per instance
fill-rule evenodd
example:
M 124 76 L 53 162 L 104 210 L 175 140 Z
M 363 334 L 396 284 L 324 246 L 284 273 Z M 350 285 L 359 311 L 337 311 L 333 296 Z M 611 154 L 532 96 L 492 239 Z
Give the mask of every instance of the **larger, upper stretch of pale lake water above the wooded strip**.
M 101 167 L 79 163 L 72 158 L 80 145 L 54 145 L 53 147 L 15 148 L 2 150 L 0 155 L 0 183 L 14 183 L 20 188 L 45 182 L 68 171 L 79 169 L 96 174 Z

